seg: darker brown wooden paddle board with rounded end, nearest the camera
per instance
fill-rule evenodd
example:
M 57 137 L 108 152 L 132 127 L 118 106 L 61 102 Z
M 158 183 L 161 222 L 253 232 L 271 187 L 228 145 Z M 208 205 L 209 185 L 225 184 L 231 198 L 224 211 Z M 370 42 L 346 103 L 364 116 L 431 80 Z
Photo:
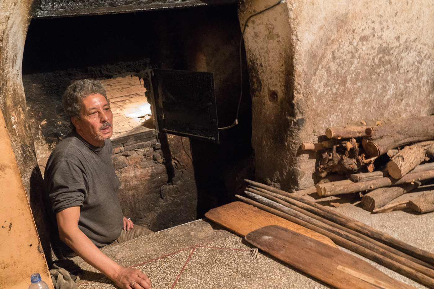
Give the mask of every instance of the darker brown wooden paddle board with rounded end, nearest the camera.
M 338 289 L 414 289 L 356 256 L 280 226 L 262 227 L 248 233 L 245 239 Z

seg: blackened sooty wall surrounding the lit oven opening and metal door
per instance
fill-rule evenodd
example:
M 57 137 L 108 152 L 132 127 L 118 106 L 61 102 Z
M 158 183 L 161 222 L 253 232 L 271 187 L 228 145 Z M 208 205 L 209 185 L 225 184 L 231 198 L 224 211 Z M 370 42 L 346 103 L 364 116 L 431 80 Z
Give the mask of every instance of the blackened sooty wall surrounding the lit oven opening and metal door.
M 33 136 L 46 144 L 39 148 L 48 154 L 69 132 L 60 98 L 73 80 L 149 67 L 214 72 L 220 127 L 230 125 L 240 94 L 239 27 L 234 5 L 32 20 L 23 82 Z M 221 131 L 219 145 L 163 133 L 114 144 L 126 216 L 162 230 L 233 199 L 253 170 L 248 85 L 244 79 L 240 125 Z

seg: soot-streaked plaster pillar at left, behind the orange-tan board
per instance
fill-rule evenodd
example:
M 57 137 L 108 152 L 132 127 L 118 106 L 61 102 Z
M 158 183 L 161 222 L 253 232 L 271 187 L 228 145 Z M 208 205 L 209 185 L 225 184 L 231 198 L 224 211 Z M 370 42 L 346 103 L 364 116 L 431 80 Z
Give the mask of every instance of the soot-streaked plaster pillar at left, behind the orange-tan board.
M 28 124 L 21 77 L 24 42 L 32 4 L 31 0 L 4 0 L 0 3 L 0 106 L 41 239 L 38 247 L 41 253 L 46 253 L 47 261 L 50 261 L 51 248 L 43 221 L 46 214 L 41 206 L 42 177 Z

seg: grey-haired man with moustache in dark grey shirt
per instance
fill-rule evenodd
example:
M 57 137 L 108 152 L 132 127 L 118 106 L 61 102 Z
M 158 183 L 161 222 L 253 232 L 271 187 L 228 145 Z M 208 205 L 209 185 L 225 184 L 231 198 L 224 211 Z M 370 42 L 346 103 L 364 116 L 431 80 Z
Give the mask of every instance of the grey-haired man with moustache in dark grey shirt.
M 66 89 L 62 105 L 73 129 L 53 150 L 44 174 L 46 200 L 52 205 L 48 211 L 58 228 L 55 246 L 64 255 L 73 250 L 123 289 L 151 289 L 144 273 L 118 265 L 99 250 L 134 226 L 118 200 L 109 139 L 112 111 L 104 85 L 76 81 Z

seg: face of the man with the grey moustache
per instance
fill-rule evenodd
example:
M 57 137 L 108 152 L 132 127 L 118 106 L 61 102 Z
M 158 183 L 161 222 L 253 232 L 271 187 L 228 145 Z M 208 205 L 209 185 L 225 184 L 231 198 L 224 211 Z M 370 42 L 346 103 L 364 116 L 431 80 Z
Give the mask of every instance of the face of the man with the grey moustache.
M 102 147 L 104 140 L 113 134 L 113 114 L 104 95 L 91 94 L 82 101 L 80 119 L 71 118 L 76 131 L 95 147 Z

